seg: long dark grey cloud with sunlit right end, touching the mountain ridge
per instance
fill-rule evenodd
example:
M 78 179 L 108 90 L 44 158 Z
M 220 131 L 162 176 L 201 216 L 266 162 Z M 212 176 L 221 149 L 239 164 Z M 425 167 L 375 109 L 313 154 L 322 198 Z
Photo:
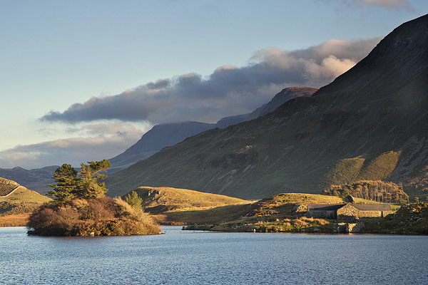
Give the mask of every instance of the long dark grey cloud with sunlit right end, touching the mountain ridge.
M 324 86 L 367 56 L 379 40 L 330 40 L 297 51 L 265 48 L 255 52 L 247 66 L 220 66 L 206 79 L 198 73 L 160 79 L 118 95 L 93 97 L 41 120 L 213 123 L 228 115 L 249 113 L 287 86 Z

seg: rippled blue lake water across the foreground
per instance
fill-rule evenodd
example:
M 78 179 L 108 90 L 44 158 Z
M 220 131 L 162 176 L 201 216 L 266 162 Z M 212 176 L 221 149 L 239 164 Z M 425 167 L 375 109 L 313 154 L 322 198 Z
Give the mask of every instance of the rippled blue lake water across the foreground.
M 29 237 L 0 228 L 0 284 L 428 284 L 428 237 L 189 232 Z

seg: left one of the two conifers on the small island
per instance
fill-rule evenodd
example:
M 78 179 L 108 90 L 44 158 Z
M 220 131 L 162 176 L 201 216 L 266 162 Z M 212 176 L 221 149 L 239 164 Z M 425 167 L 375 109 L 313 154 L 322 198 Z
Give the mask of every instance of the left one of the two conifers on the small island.
M 66 203 L 76 197 L 78 190 L 78 172 L 69 164 L 63 164 L 54 172 L 56 185 L 49 184 L 54 190 L 49 190 L 48 195 L 54 197 L 57 202 Z

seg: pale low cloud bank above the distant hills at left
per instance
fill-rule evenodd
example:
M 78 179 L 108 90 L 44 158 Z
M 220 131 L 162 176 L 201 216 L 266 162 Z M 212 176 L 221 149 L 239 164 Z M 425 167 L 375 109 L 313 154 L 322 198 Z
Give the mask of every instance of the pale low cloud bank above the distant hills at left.
M 0 165 L 2 168 L 19 165 L 32 169 L 46 165 L 71 163 L 78 167 L 81 162 L 115 157 L 136 143 L 141 138 L 141 134 L 151 127 L 152 125 L 123 122 L 73 125 L 72 128 L 66 130 L 68 134 L 76 135 L 73 138 L 18 145 L 1 151 Z M 52 128 L 40 131 L 50 133 L 57 130 Z

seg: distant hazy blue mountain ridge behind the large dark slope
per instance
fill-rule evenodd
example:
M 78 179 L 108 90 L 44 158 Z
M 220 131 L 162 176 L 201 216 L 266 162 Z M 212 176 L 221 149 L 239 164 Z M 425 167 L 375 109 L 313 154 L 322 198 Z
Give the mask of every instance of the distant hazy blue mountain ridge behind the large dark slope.
M 310 96 L 315 93 L 316 90 L 318 89 L 306 86 L 285 88 L 280 93 L 277 93 L 269 103 L 258 108 L 253 113 L 225 117 L 215 124 L 183 122 L 155 125 L 151 130 L 145 133 L 141 139 L 136 142 L 136 144 L 129 147 L 120 155 L 109 160 L 111 168 L 108 170 L 108 173 L 123 170 L 140 160 L 144 160 L 147 157 L 154 155 L 164 147 L 175 145 L 176 143 L 183 141 L 185 138 L 202 133 L 205 130 L 226 128 L 229 125 L 235 125 L 245 120 L 258 118 L 261 115 L 272 112 L 272 110 L 275 110 L 287 100 L 300 96 Z

